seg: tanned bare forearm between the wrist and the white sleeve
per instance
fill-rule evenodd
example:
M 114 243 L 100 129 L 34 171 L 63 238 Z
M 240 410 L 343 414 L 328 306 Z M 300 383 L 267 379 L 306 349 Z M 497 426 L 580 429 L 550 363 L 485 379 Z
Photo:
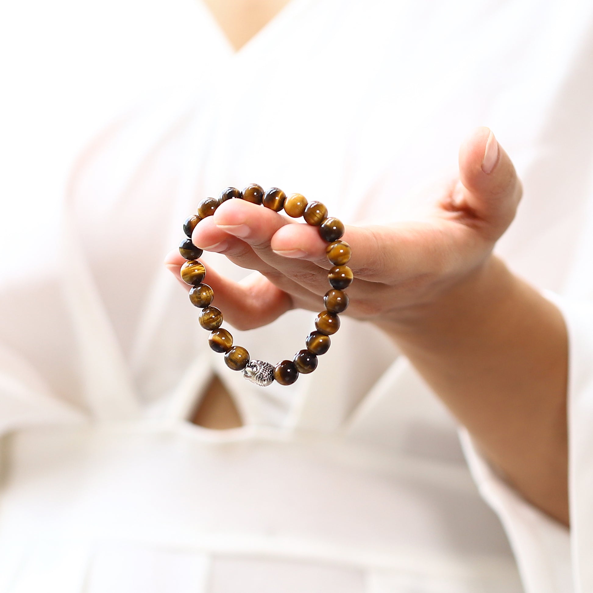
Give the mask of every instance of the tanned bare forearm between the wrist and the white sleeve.
M 506 479 L 568 524 L 568 340 L 557 308 L 492 258 L 387 331 Z

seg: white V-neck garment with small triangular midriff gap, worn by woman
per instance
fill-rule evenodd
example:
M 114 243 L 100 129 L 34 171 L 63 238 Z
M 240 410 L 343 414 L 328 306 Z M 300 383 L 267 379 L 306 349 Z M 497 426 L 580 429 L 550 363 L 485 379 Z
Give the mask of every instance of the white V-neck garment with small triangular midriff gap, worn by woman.
M 148 5 L 157 30 L 164 4 Z M 23 278 L 4 282 L 0 592 L 592 591 L 593 5 L 292 0 L 238 53 L 203 10 L 172 5 L 208 40 L 191 92 L 87 142 L 47 190 L 65 200 L 60 256 L 26 242 Z M 133 31 L 146 12 L 125 6 Z M 454 421 L 378 330 L 344 318 L 314 374 L 257 388 L 209 350 L 162 266 L 197 201 L 228 185 L 301 192 L 350 224 L 405 219 L 476 125 L 525 186 L 499 252 L 569 326 L 570 533 L 462 430 L 468 468 Z M 289 358 L 313 318 L 235 342 Z M 214 373 L 241 428 L 187 420 Z

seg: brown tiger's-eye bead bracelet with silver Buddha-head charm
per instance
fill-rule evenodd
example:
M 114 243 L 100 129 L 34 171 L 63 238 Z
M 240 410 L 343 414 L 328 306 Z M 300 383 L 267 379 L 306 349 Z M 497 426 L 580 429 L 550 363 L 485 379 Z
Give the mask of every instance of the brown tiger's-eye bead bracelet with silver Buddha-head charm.
M 315 318 L 317 331 L 312 331 L 305 340 L 306 349 L 299 350 L 292 361 L 280 361 L 276 366 L 269 362 L 250 360 L 249 353 L 243 346 L 233 346 L 232 336 L 228 330 L 221 327 L 222 313 L 212 307 L 214 291 L 202 280 L 206 276 L 206 269 L 197 259 L 203 250 L 192 243 L 192 232 L 200 220 L 212 216 L 222 202 L 237 198 L 254 204 L 263 204 L 275 212 L 282 209 L 292 218 L 302 216 L 307 224 L 319 228 L 319 234 L 329 245 L 326 248 L 327 259 L 333 267 L 327 279 L 331 289 L 326 292 L 323 302 L 326 310 L 321 311 Z M 317 356 L 324 354 L 330 347 L 330 336 L 340 327 L 338 313 L 346 310 L 348 295 L 344 292 L 353 280 L 352 270 L 345 264 L 349 262 L 352 251 L 349 244 L 340 241 L 344 234 L 344 225 L 337 218 L 327 217 L 327 208 L 321 202 L 308 203 L 299 193 L 286 197 L 277 187 L 264 192 L 257 184 L 248 185 L 243 192 L 235 187 L 222 190 L 218 199 L 208 197 L 197 207 L 197 214 L 190 216 L 183 223 L 183 231 L 188 238 L 184 238 L 179 246 L 179 252 L 188 260 L 181 266 L 181 278 L 192 285 L 189 299 L 193 305 L 202 309 L 200 326 L 211 331 L 208 343 L 215 352 L 224 352 L 227 366 L 233 371 L 243 371 L 243 377 L 262 387 L 272 384 L 274 380 L 280 385 L 291 385 L 298 379 L 299 373 L 308 374 L 317 368 Z

